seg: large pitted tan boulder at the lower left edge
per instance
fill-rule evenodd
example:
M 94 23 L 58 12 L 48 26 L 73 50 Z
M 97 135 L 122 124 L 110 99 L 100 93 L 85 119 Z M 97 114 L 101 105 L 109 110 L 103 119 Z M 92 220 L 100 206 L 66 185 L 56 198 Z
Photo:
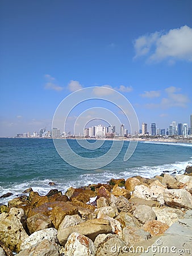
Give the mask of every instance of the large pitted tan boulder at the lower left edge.
M 23 209 L 11 208 L 9 213 L 0 214 L 0 240 L 12 251 L 20 251 L 22 242 L 28 237 L 24 221 Z

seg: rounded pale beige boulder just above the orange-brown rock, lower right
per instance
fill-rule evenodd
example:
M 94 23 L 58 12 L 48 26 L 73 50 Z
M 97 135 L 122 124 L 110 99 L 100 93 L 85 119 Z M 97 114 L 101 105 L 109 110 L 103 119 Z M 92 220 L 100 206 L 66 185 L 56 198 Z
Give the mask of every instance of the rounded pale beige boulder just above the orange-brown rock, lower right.
M 148 205 L 138 205 L 133 212 L 133 216 L 137 218 L 142 224 L 146 221 L 155 220 L 156 214 L 153 212 L 152 208 Z

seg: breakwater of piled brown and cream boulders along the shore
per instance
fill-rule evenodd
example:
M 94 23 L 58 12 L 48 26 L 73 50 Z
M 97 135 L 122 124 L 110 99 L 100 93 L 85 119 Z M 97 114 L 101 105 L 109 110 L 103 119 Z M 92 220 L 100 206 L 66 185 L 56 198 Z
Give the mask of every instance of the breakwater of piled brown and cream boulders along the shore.
M 2 256 L 141 255 L 160 238 L 192 252 L 192 167 L 184 175 L 71 187 L 65 195 L 25 192 L 0 207 Z

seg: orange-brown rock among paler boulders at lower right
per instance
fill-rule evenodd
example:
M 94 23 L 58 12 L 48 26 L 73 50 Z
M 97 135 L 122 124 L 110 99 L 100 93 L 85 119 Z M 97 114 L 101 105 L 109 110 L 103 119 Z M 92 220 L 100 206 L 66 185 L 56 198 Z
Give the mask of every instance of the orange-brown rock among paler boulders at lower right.
M 168 228 L 169 228 L 168 225 L 166 225 L 165 223 L 162 223 L 161 221 L 157 221 L 157 220 L 148 221 L 143 226 L 143 229 L 145 231 L 151 233 L 152 236 L 161 235 Z

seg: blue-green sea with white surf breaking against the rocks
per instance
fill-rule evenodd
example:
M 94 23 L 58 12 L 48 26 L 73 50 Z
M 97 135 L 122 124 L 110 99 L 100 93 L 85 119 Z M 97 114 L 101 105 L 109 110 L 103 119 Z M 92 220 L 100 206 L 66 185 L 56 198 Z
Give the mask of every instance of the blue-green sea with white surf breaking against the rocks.
M 89 151 L 79 146 L 76 139 L 69 139 L 70 147 L 76 154 L 85 154 L 87 158 L 101 156 L 102 152 L 109 150 L 111 143 L 105 141 L 101 148 Z M 1 198 L 0 204 L 22 195 L 30 187 L 40 195 L 46 195 L 53 188 L 65 193 L 69 187 L 107 183 L 111 178 L 183 174 L 186 166 L 192 165 L 192 144 L 138 142 L 131 158 L 124 161 L 129 143 L 123 142 L 122 150 L 111 163 L 98 169 L 84 170 L 66 163 L 52 139 L 0 138 L 0 196 L 7 192 L 13 194 Z M 55 185 L 50 186 L 49 182 Z

